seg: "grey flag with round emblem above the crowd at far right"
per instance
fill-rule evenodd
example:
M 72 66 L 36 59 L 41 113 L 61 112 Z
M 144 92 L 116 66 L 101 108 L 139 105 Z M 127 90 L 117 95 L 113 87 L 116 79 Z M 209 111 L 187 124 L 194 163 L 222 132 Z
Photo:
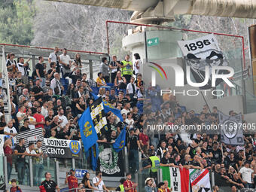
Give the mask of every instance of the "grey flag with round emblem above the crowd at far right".
M 244 145 L 242 114 L 228 116 L 218 111 L 221 141 L 227 145 Z

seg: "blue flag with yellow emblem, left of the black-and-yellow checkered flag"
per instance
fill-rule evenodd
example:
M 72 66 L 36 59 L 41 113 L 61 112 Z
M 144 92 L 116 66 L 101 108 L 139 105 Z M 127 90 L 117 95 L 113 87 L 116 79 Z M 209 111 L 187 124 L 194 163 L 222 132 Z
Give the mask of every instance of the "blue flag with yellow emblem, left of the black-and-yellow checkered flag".
M 84 151 L 88 151 L 91 146 L 96 144 L 98 136 L 90 115 L 90 108 L 87 108 L 78 120 Z

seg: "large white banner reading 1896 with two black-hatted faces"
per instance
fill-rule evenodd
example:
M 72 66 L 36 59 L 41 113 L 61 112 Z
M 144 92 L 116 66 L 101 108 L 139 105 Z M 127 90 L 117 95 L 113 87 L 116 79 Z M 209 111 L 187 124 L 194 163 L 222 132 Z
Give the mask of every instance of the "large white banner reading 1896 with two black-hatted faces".
M 184 56 L 187 66 L 190 66 L 190 74 L 193 76 L 191 81 L 194 83 L 203 83 L 201 90 L 212 88 L 212 67 L 228 66 L 227 60 L 218 47 L 218 41 L 214 35 L 206 35 L 201 38 L 188 41 L 178 41 L 181 52 Z M 206 71 L 206 67 L 209 69 Z M 226 70 L 217 70 L 216 74 L 227 74 Z M 206 79 L 208 78 L 208 80 Z M 208 82 L 207 82 L 208 81 Z M 222 79 L 215 81 L 215 86 L 220 84 Z

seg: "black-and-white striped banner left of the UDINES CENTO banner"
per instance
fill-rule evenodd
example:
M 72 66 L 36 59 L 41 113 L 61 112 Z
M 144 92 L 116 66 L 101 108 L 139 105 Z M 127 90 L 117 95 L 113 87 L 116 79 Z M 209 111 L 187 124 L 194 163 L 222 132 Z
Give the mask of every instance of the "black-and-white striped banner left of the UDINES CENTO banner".
M 19 143 L 19 139 L 24 138 L 25 139 L 25 147 L 29 147 L 29 143 L 33 142 L 36 143 L 38 140 L 42 142 L 41 149 L 44 153 L 46 153 L 45 143 L 44 143 L 44 136 L 43 136 L 43 129 L 37 128 L 34 130 L 28 130 L 24 132 L 20 132 L 16 136 L 16 143 Z

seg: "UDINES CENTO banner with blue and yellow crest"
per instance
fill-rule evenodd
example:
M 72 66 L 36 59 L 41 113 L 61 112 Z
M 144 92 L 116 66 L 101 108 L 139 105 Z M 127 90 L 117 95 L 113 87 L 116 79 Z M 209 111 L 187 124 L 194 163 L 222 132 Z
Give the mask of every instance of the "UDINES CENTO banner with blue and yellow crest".
M 81 158 L 81 142 L 66 139 L 44 139 L 47 155 L 57 158 Z

